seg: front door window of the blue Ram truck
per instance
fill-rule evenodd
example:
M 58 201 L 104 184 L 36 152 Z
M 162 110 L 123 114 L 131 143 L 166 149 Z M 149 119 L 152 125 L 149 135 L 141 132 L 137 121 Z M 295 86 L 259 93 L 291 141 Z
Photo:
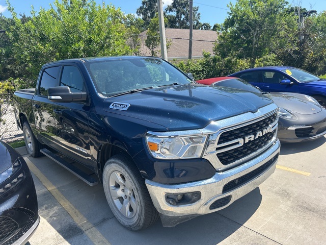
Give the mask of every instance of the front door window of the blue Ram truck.
M 86 91 L 83 76 L 75 66 L 63 67 L 60 86 L 68 86 L 71 92 Z

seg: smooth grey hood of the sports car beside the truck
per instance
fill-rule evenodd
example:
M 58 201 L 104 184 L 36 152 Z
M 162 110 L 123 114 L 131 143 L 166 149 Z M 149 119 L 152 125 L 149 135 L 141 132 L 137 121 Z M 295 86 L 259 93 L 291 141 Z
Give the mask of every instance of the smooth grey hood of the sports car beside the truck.
M 303 115 L 318 113 L 322 107 L 307 99 L 306 95 L 300 93 L 271 92 L 265 94 L 269 99 L 281 108 Z

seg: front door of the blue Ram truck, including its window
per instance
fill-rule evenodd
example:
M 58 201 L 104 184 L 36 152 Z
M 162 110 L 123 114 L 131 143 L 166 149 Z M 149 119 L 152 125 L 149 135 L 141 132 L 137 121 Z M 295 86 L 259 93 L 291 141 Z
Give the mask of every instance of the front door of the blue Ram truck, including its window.
M 86 91 L 83 76 L 79 68 L 73 65 L 63 66 L 59 86 L 68 86 L 71 92 Z M 89 101 L 53 103 L 57 150 L 85 165 L 88 165 L 90 158 L 88 110 Z

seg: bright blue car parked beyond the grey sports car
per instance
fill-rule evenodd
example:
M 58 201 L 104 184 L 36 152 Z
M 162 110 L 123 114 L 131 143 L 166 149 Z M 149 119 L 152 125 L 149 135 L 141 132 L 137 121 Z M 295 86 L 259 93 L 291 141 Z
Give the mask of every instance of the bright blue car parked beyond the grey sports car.
M 326 107 L 326 79 L 290 66 L 266 66 L 241 70 L 228 77 L 241 78 L 267 92 L 303 93 Z

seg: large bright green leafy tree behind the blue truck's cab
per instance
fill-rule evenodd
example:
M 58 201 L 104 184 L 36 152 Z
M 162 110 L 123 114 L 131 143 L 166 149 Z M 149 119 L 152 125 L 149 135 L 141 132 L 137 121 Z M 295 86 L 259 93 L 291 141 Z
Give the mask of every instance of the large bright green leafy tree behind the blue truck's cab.
M 94 0 L 56 0 L 50 9 L 34 9 L 22 22 L 7 1 L 14 24 L 7 34 L 15 62 L 25 76 L 35 79 L 42 64 L 68 58 L 128 55 L 128 28 L 124 14 L 113 5 L 96 5 Z

